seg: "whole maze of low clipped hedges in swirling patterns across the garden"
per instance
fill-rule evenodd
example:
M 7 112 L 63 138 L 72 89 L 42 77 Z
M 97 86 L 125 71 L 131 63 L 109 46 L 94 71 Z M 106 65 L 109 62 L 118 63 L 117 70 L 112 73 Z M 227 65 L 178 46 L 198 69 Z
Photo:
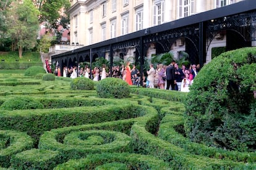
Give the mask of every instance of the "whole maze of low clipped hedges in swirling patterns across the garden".
M 104 99 L 95 89 L 70 89 L 68 78 L 6 77 L 0 169 L 256 169 L 255 152 L 184 136 L 182 92 L 130 87 L 129 98 Z

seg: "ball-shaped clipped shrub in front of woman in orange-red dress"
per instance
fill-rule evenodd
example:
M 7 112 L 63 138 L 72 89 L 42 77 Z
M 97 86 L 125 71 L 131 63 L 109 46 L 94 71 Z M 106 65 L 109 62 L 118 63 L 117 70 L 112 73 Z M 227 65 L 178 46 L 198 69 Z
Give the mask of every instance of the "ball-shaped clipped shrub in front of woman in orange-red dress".
M 106 78 L 96 85 L 96 92 L 101 98 L 123 99 L 129 97 L 130 89 L 126 81 L 119 78 Z

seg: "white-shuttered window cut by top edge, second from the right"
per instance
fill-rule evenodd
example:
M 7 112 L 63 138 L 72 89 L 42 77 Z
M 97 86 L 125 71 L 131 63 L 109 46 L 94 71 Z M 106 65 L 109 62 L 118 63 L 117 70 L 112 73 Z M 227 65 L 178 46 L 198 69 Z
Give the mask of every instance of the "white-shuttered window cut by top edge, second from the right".
M 179 0 L 179 18 L 195 14 L 195 0 Z

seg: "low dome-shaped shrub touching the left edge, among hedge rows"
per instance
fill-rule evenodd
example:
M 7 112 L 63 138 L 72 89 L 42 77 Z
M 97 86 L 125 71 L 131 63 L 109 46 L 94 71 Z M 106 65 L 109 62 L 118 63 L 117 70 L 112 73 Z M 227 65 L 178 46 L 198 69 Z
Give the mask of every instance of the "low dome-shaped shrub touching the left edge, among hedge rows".
M 1 110 L 23 110 L 43 108 L 43 105 L 31 97 L 13 97 L 1 105 Z

